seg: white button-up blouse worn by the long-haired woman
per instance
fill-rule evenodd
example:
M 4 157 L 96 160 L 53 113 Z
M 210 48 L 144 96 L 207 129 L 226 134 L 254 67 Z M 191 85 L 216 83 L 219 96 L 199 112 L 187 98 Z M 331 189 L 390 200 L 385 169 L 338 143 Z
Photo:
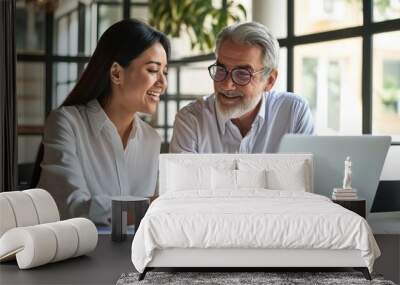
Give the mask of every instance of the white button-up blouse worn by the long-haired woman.
M 51 112 L 43 143 L 38 187 L 53 194 L 64 217 L 83 210 L 109 224 L 112 196 L 154 195 L 161 139 L 138 115 L 124 149 L 97 100 L 61 107 Z

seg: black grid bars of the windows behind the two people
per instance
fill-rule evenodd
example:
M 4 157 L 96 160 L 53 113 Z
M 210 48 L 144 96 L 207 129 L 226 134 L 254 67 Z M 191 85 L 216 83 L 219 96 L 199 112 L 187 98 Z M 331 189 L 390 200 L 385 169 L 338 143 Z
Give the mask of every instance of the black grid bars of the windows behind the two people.
M 226 1 L 226 0 L 223 0 Z M 400 19 L 391 19 L 380 22 L 373 21 L 373 1 L 363 0 L 363 25 L 349 27 L 338 30 L 330 30 L 326 32 L 318 32 L 306 35 L 296 36 L 294 33 L 295 24 L 295 3 L 296 0 L 287 0 L 287 36 L 279 38 L 279 44 L 282 48 L 286 48 L 287 53 L 287 90 L 293 92 L 294 85 L 294 48 L 298 45 L 328 42 L 332 40 L 349 39 L 354 37 L 362 38 L 362 134 L 372 133 L 372 56 L 373 56 L 373 42 L 372 37 L 375 34 L 384 32 L 400 31 Z M 130 0 L 122 0 L 120 2 L 113 1 L 94 1 L 91 5 L 97 5 L 97 11 L 99 11 L 100 5 L 120 5 L 123 9 L 123 19 L 130 18 L 130 9 L 134 6 L 146 6 L 147 3 L 143 2 L 132 2 Z M 79 5 L 83 5 L 79 3 Z M 78 18 L 82 13 L 78 11 Z M 84 14 L 84 13 L 83 13 Z M 98 33 L 99 24 L 99 13 L 96 15 L 96 26 Z M 32 54 L 32 53 L 17 53 L 18 62 L 42 62 L 45 65 L 45 116 L 53 108 L 53 77 L 54 70 L 53 66 L 55 63 L 77 63 L 78 74 L 83 70 L 83 66 L 89 61 L 90 56 L 79 55 L 80 51 L 84 48 L 84 35 L 79 32 L 78 39 L 78 55 L 76 56 L 62 56 L 54 53 L 54 15 L 53 13 L 46 13 L 45 16 L 45 51 L 44 54 Z M 82 29 L 83 23 L 81 20 L 78 21 L 78 30 Z M 177 68 L 176 78 L 176 95 L 165 95 L 161 98 L 164 101 L 164 124 L 155 124 L 155 128 L 162 128 L 164 130 L 164 141 L 168 141 L 168 129 L 172 126 L 168 125 L 168 101 L 175 101 L 177 109 L 179 110 L 180 101 L 195 99 L 198 96 L 182 95 L 180 92 L 180 66 L 189 64 L 191 62 L 199 62 L 214 59 L 213 54 L 195 56 L 192 58 L 171 61 L 170 66 Z M 29 126 L 18 126 L 18 135 L 33 135 L 41 134 L 42 129 L 30 128 Z M 392 145 L 400 145 L 400 141 L 392 142 Z

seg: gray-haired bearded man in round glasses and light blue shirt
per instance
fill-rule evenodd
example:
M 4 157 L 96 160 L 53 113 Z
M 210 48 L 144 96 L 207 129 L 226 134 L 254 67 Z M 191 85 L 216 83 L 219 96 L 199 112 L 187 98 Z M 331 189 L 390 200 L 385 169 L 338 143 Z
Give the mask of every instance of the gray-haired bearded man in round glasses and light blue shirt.
M 271 91 L 278 76 L 279 44 L 255 22 L 226 27 L 208 67 L 214 94 L 178 112 L 170 152 L 271 153 L 286 133 L 312 134 L 307 103 Z

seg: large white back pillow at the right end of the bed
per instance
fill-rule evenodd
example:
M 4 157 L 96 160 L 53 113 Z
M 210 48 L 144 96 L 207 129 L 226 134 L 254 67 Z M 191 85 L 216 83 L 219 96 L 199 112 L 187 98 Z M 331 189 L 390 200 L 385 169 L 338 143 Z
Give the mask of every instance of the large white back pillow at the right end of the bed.
M 269 169 L 267 171 L 268 188 L 273 190 L 292 190 L 305 192 L 308 188 L 305 163 L 295 163 L 291 167 Z

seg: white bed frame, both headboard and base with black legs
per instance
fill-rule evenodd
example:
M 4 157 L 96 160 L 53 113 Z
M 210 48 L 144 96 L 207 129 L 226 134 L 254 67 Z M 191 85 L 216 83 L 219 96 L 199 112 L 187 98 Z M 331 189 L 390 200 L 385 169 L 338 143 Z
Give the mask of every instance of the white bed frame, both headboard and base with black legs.
M 252 158 L 267 158 L 268 154 L 251 155 Z M 304 159 L 309 164 L 309 181 L 313 181 L 312 154 L 274 154 L 275 158 L 295 157 Z M 248 154 L 162 154 L 160 156 L 160 189 L 162 195 L 167 191 L 165 185 L 168 179 L 168 163 L 176 159 L 202 159 L 213 164 L 221 160 L 235 160 L 249 158 Z M 313 183 L 309 184 L 308 192 L 313 192 Z M 361 257 L 359 250 L 333 250 L 333 249 L 254 249 L 254 248 L 169 248 L 157 249 L 153 259 L 149 262 L 139 280 L 143 280 L 146 273 L 156 268 L 229 268 L 235 271 L 263 271 L 271 268 L 305 268 L 334 269 L 350 267 L 361 271 L 367 280 L 371 280 L 369 270 Z M 320 270 L 323 271 L 323 270 Z

